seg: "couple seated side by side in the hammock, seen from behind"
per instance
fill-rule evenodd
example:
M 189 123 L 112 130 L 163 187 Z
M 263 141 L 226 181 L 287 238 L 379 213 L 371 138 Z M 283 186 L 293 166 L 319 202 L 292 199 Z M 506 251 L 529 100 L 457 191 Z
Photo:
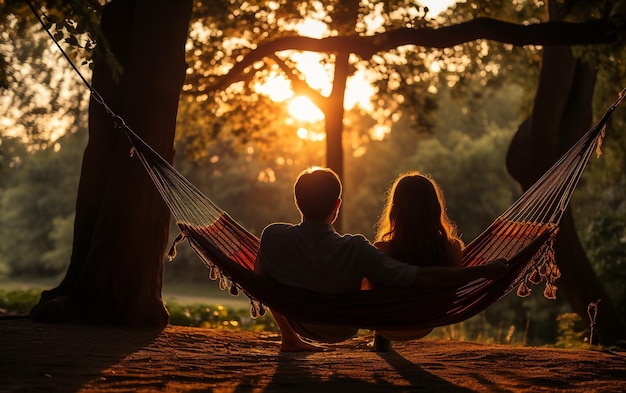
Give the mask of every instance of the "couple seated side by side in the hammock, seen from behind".
M 504 260 L 459 267 L 463 243 L 456 236 L 438 186 L 418 173 L 399 177 L 378 224 L 377 242 L 361 235 L 340 235 L 332 223 L 341 205 L 341 182 L 330 169 L 311 168 L 294 186 L 302 221 L 274 223 L 261 235 L 255 272 L 280 283 L 324 293 L 341 293 L 376 286 L 443 288 L 506 273 Z M 273 311 L 281 351 L 315 351 L 320 342 L 351 338 L 356 329 L 302 323 Z M 374 348 L 386 351 L 390 340 L 412 340 L 430 332 L 377 331 Z

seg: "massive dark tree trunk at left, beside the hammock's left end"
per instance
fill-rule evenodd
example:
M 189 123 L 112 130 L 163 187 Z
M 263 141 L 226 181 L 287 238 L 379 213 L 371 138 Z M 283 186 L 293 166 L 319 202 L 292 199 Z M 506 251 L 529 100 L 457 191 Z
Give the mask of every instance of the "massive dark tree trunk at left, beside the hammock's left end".
M 173 159 L 191 1 L 115 0 L 102 29 L 123 67 L 116 82 L 96 59 L 93 88 L 166 159 Z M 70 266 L 42 293 L 33 316 L 127 326 L 165 326 L 161 301 L 169 212 L 110 114 L 93 98 Z M 119 122 L 118 122 L 119 123 Z

